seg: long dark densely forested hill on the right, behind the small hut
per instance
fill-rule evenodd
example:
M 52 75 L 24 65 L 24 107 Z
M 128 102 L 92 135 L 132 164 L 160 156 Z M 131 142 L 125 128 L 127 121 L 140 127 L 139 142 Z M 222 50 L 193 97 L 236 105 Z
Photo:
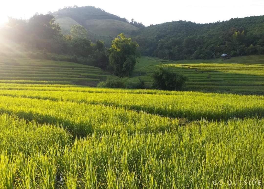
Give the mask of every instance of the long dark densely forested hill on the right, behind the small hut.
M 264 54 L 264 16 L 209 24 L 167 22 L 141 28 L 133 38 L 143 55 L 173 60 Z

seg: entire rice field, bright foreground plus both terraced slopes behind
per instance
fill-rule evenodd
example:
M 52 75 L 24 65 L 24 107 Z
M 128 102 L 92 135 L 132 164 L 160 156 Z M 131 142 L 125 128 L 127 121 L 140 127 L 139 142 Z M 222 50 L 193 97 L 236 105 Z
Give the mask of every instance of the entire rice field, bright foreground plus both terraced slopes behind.
M 1 59 L 0 188 L 263 188 L 262 64 L 163 63 L 194 91 L 93 88 L 107 72 Z M 143 64 L 147 80 L 160 63 Z

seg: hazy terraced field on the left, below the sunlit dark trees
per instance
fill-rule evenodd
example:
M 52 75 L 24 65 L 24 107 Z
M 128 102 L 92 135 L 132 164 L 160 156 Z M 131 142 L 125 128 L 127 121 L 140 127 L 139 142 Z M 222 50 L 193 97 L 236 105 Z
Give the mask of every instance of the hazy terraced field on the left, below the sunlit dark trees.
M 100 68 L 71 62 L 7 58 L 0 60 L 0 81 L 40 84 L 82 84 L 96 86 L 109 76 Z

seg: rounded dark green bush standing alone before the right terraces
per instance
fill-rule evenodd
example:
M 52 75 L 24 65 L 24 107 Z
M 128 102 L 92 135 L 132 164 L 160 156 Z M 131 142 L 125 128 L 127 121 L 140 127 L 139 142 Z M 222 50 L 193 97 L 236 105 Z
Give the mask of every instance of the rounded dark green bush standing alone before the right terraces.
M 154 69 L 151 76 L 153 78 L 152 87 L 161 90 L 180 90 L 184 82 L 187 81 L 187 77 L 170 71 L 165 67 L 158 67 Z

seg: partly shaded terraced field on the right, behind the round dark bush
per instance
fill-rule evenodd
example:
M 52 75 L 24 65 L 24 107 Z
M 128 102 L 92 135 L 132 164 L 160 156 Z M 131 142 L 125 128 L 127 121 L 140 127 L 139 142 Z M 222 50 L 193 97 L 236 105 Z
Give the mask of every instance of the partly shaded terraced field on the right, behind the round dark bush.
M 263 55 L 178 62 L 143 57 L 136 64 L 131 81 L 140 76 L 150 86 L 151 69 L 161 64 L 188 77 L 184 88 L 187 91 L 264 94 Z

